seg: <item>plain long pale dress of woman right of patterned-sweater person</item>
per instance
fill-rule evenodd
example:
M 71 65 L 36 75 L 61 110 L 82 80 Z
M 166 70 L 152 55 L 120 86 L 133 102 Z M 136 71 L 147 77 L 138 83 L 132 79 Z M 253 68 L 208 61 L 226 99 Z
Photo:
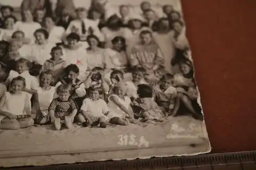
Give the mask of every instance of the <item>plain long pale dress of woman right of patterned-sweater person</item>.
M 171 61 L 175 56 L 175 46 L 172 32 L 167 34 L 159 34 L 155 32 L 153 34 L 153 38 L 163 54 L 165 70 L 172 74 L 173 70 Z

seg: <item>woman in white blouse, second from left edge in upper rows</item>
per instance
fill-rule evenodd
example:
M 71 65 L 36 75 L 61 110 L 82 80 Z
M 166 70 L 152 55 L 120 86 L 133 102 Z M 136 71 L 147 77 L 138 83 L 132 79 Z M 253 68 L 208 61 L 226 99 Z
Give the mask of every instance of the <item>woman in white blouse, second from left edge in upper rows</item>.
M 17 21 L 15 29 L 23 31 L 25 38 L 30 39 L 30 42 L 34 42 L 34 32 L 41 28 L 40 24 L 33 21 L 33 15 L 29 10 L 22 12 L 22 21 Z

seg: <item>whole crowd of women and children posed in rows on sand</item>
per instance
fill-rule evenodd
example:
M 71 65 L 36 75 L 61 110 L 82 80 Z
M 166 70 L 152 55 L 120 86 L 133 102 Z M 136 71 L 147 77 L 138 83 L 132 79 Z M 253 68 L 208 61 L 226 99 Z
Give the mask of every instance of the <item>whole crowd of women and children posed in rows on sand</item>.
M 142 2 L 141 14 L 110 14 L 107 4 L 23 0 L 21 20 L 1 7 L 0 129 L 203 120 L 181 13 Z

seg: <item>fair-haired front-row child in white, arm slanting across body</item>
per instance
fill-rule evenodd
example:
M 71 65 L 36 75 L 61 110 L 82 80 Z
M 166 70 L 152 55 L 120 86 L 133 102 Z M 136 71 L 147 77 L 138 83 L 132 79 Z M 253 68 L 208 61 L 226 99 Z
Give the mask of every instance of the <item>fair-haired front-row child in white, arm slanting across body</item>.
M 120 83 L 113 89 L 113 94 L 109 96 L 109 114 L 111 124 L 128 125 L 129 119 L 134 118 L 133 109 L 131 108 L 131 99 L 125 95 L 127 86 Z

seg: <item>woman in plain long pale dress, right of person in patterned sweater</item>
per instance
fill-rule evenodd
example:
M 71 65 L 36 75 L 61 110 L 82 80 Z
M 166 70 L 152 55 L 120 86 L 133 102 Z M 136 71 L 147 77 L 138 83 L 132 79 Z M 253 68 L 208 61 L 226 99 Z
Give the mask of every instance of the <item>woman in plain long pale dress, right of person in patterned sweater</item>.
M 153 33 L 153 38 L 163 53 L 165 70 L 173 74 L 171 61 L 175 56 L 175 46 L 173 43 L 173 33 L 169 28 L 169 21 L 167 18 L 159 19 L 157 31 Z

